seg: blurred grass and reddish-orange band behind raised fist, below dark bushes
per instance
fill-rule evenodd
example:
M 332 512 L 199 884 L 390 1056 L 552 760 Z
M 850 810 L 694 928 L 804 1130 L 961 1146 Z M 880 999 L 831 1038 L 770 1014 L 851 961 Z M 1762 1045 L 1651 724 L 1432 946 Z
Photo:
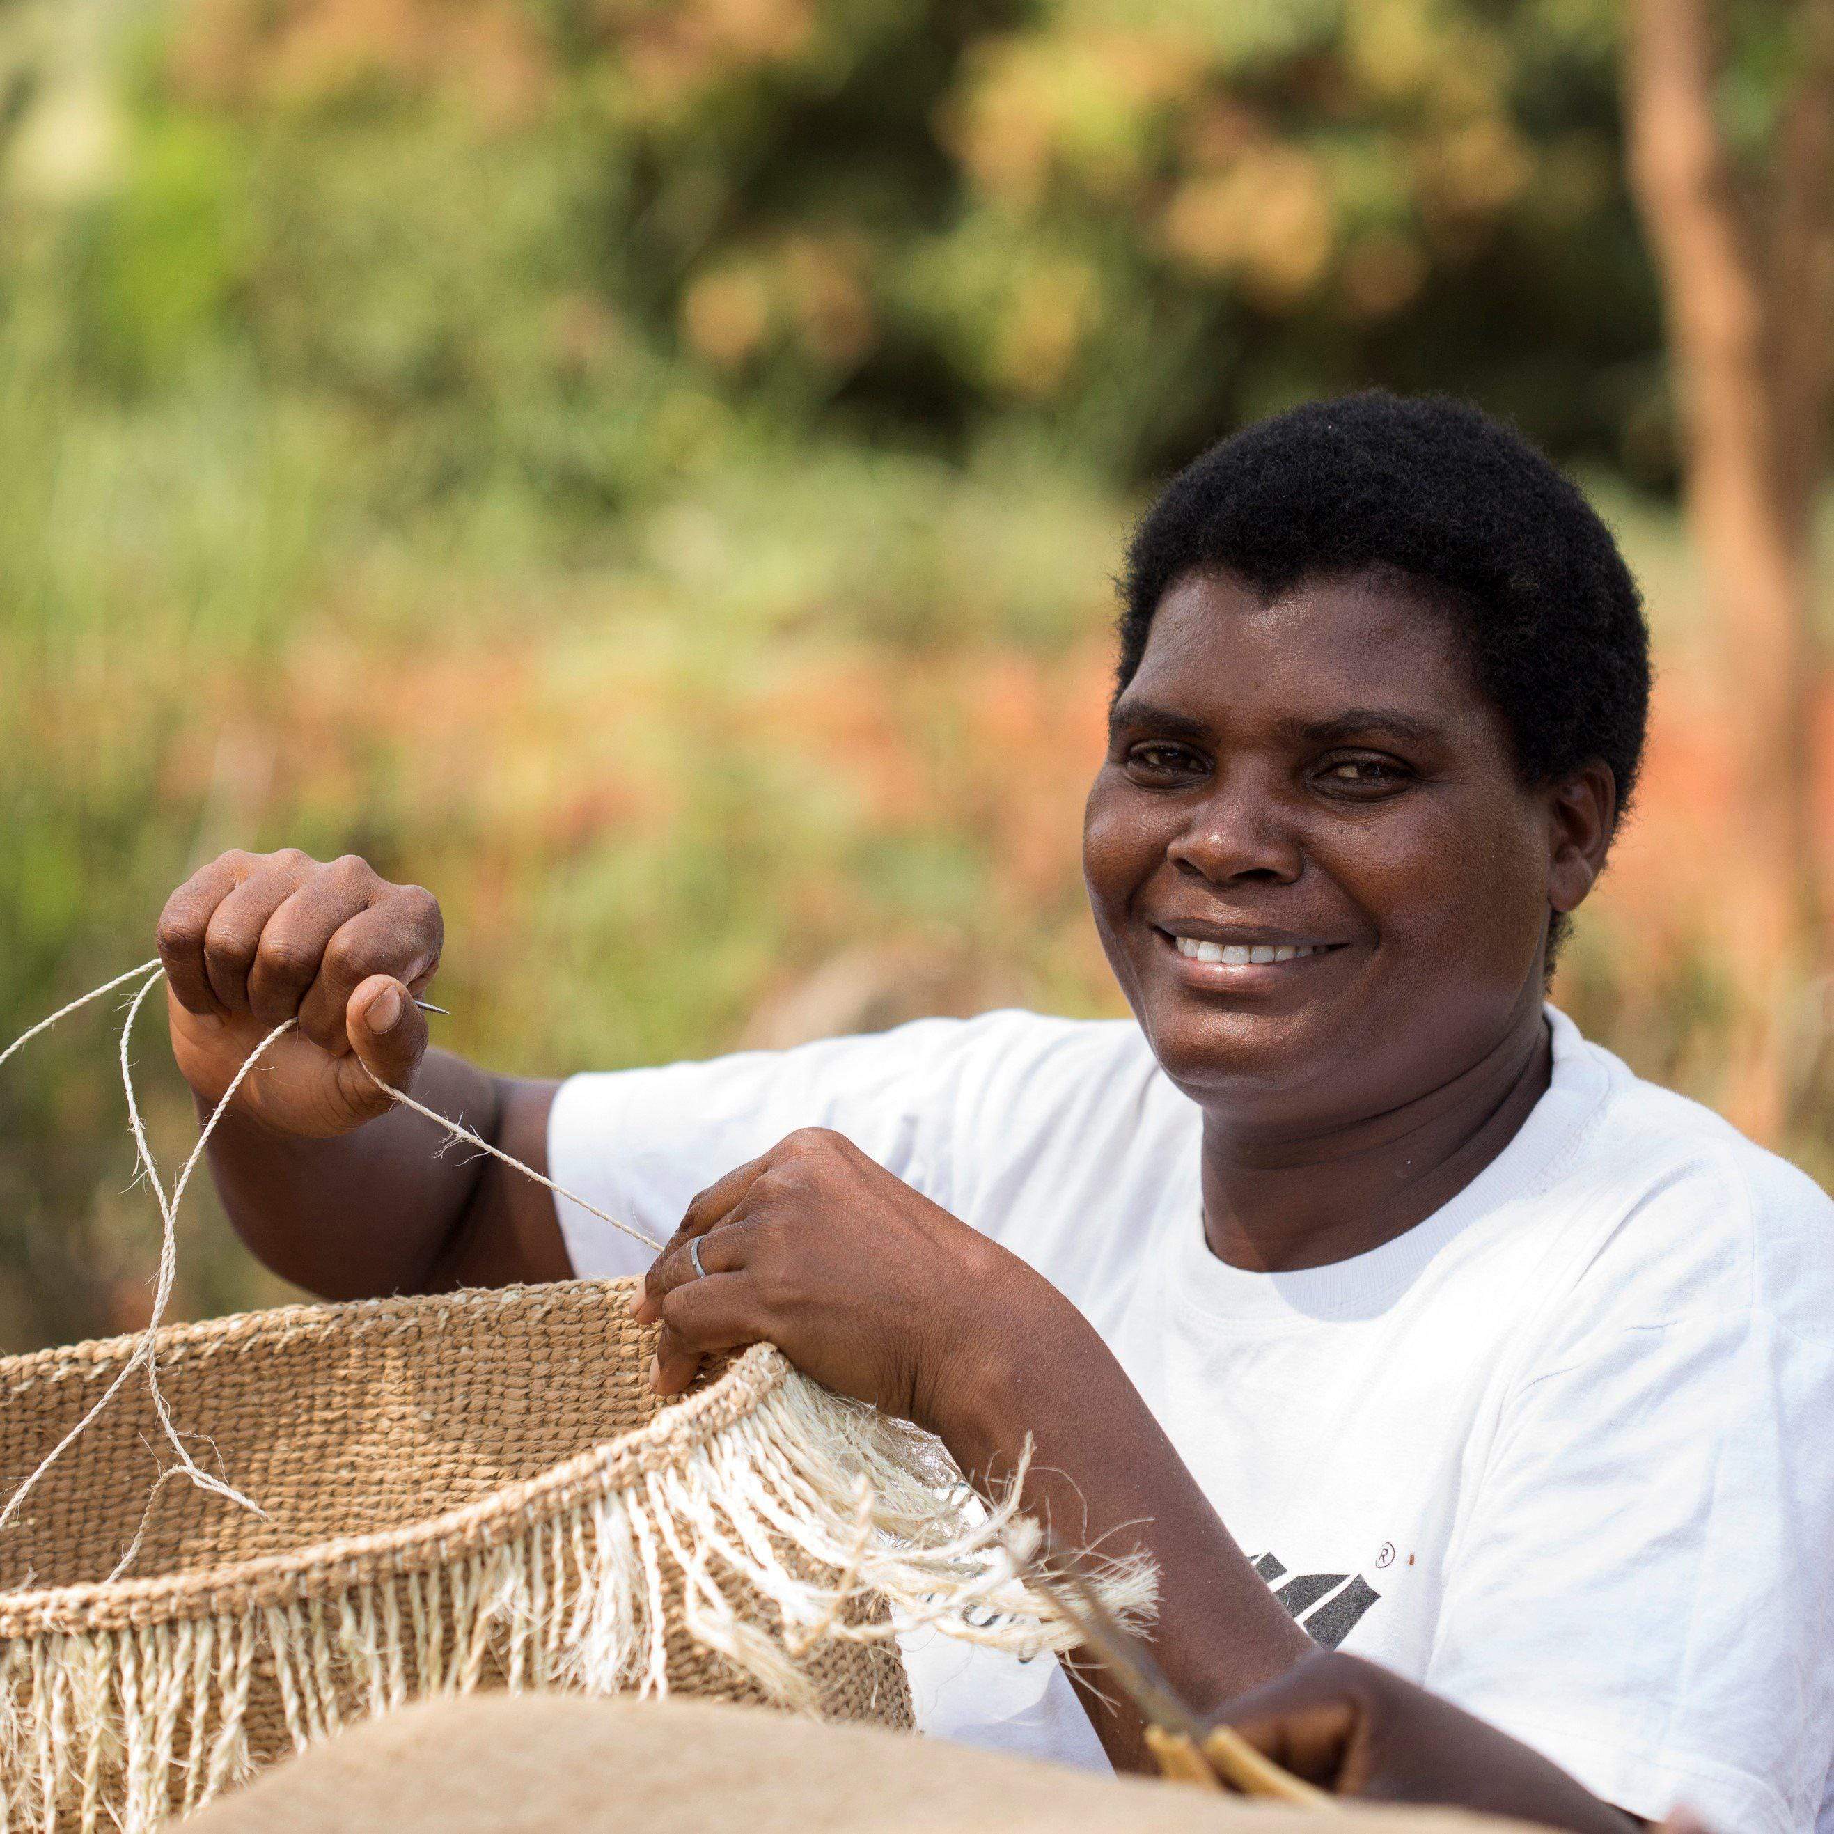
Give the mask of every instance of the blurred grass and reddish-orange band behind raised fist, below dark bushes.
M 325 403 L 233 369 L 108 398 L 28 330 L 0 339 L 6 1036 L 149 956 L 200 860 L 282 844 L 435 886 L 444 1042 L 519 1069 L 721 1049 L 862 939 L 957 1005 L 1102 1001 L 1062 745 L 1099 712 L 1126 504 L 1038 455 L 805 449 L 585 543 L 488 477 L 391 519 Z M 1042 902 L 1012 891 L 1034 820 Z M 171 1157 L 154 1016 L 138 1062 Z M 0 1128 L 0 1337 L 132 1324 L 154 1212 L 108 1014 L 9 1066 Z M 205 1194 L 191 1216 L 182 1311 L 275 1291 Z

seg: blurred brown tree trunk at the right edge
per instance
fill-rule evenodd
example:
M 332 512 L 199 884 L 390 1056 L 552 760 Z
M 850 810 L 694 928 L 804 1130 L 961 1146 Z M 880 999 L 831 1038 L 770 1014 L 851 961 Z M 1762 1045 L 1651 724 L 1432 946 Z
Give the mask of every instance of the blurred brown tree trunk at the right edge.
M 1825 952 L 1814 704 L 1814 515 L 1834 341 L 1834 0 L 1786 13 L 1794 59 L 1755 161 L 1717 110 L 1726 18 L 1632 0 L 1630 182 L 1662 275 L 1682 396 L 1687 506 L 1742 719 L 1751 858 L 1733 900 L 1761 1038 L 1750 1113 L 1783 1119 L 1777 994 Z M 1768 1067 L 1766 1067 L 1768 1066 Z

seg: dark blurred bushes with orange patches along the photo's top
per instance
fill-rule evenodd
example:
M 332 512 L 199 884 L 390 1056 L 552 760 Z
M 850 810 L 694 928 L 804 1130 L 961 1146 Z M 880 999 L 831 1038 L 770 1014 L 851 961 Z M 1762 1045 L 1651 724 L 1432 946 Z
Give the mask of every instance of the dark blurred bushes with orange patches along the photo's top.
M 735 436 L 1018 427 L 1137 482 L 1370 380 L 1669 466 L 1612 0 L 136 17 L 46 255 L 70 359 L 337 403 L 391 514 L 506 475 L 596 525 Z

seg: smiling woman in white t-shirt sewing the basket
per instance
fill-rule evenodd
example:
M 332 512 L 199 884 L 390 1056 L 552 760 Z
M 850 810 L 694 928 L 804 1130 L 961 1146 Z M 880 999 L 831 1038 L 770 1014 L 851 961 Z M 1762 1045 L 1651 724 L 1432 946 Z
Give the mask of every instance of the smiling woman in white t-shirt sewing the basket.
M 561 1086 L 424 1056 L 438 908 L 226 855 L 171 900 L 248 1243 L 325 1295 L 636 1273 L 365 1067 L 655 1234 L 657 1385 L 770 1339 L 1053 1530 L 1150 1555 L 1199 1707 L 1342 1645 L 1618 1806 L 1816 1821 L 1834 1750 L 1834 1210 L 1544 1005 L 1629 805 L 1649 653 L 1605 526 L 1443 402 L 1187 470 L 1126 574 L 1084 827 L 1133 1022 L 1025 1012 Z M 937 1731 L 1139 1753 L 950 1645 Z M 1086 1717 L 1084 1717 L 1086 1715 Z M 1093 1726 L 1093 1733 L 1091 1733 Z

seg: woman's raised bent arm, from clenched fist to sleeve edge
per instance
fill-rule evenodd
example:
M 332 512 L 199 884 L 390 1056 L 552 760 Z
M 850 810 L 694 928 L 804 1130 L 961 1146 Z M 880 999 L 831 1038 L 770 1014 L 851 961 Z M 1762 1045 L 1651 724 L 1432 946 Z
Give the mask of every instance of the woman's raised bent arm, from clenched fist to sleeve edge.
M 211 1135 L 237 1234 L 325 1298 L 567 1275 L 554 1203 L 484 1154 L 440 1154 L 431 1121 L 370 1071 L 517 1159 L 547 1168 L 554 1086 L 427 1049 L 413 996 L 438 968 L 431 893 L 356 858 L 226 853 L 160 919 L 172 1055 L 209 1115 L 284 1020 Z

